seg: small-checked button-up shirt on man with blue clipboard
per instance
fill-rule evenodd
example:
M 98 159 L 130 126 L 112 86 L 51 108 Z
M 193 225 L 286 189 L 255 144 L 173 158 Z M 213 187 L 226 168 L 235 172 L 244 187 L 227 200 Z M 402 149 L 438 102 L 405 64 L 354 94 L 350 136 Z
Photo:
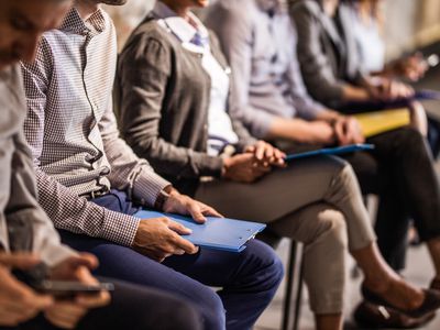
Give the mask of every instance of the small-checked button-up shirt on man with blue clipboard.
M 112 110 L 114 26 L 101 9 L 82 21 L 76 9 L 43 35 L 36 61 L 22 64 L 24 131 L 36 167 L 40 202 L 59 229 L 131 245 L 138 220 L 80 197 L 119 189 L 153 206 L 169 185 L 119 138 Z

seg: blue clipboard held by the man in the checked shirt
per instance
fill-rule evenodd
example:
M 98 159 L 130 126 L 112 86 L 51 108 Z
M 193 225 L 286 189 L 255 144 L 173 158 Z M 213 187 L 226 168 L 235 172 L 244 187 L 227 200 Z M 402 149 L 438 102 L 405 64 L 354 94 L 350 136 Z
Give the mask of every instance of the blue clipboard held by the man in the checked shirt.
M 249 240 L 266 228 L 264 223 L 242 221 L 228 218 L 207 217 L 204 224 L 196 223 L 190 217 L 142 210 L 134 215 L 141 219 L 167 217 L 193 230 L 186 240 L 206 249 L 229 252 L 242 252 Z

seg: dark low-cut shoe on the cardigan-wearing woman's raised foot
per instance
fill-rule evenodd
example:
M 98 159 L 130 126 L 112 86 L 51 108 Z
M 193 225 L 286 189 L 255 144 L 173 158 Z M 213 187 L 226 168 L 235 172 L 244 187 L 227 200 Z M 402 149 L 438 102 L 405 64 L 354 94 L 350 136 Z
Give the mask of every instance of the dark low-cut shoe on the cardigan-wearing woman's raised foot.
M 424 293 L 425 293 L 424 302 L 418 308 L 408 310 L 408 309 L 400 309 L 398 307 L 391 305 L 388 301 L 377 296 L 376 294 L 367 289 L 365 286 L 362 286 L 362 295 L 370 302 L 384 307 L 391 307 L 396 311 L 405 314 L 406 316 L 415 319 L 421 318 L 430 312 L 433 312 L 440 307 L 440 292 L 435 289 L 424 289 Z

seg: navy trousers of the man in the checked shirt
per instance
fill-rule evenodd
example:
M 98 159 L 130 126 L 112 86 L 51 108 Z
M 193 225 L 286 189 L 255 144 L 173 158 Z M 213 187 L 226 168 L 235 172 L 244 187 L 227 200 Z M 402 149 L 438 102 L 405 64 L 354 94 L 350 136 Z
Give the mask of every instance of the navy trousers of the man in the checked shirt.
M 92 200 L 113 211 L 139 211 L 124 193 Z M 95 254 L 97 275 L 119 278 L 172 293 L 191 302 L 205 329 L 251 329 L 283 278 L 283 265 L 266 244 L 252 240 L 241 253 L 200 249 L 195 255 L 170 256 L 157 263 L 112 242 L 61 231 L 64 243 Z M 212 287 L 219 287 L 216 293 Z M 173 311 L 169 312 L 173 317 Z

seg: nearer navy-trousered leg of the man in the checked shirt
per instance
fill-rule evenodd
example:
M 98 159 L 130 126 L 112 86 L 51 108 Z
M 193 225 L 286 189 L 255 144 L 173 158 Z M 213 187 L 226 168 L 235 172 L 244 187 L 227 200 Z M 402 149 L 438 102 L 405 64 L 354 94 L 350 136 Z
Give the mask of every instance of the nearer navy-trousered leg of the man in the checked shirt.
M 194 304 L 210 329 L 223 329 L 224 309 L 220 297 L 209 287 L 157 263 L 132 249 L 101 239 L 61 231 L 63 243 L 99 258 L 96 275 L 154 287 Z

